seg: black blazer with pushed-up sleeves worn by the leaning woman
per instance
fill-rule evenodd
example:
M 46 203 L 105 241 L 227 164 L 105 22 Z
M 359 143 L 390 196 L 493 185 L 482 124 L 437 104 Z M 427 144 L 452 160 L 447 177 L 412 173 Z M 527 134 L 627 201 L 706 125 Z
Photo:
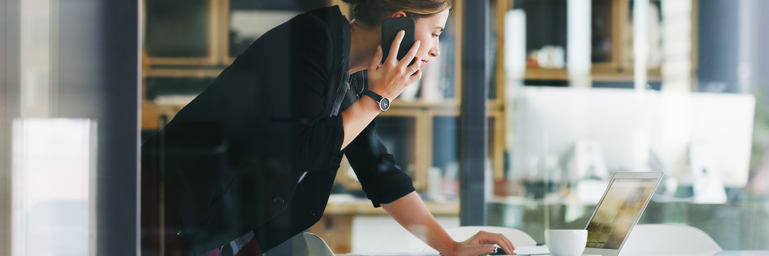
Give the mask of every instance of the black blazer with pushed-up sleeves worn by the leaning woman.
M 195 254 L 248 231 L 268 251 L 315 224 L 342 154 L 375 207 L 414 191 L 375 122 L 340 150 L 338 113 L 366 87 L 348 75 L 347 23 L 333 6 L 271 29 L 142 146 Z

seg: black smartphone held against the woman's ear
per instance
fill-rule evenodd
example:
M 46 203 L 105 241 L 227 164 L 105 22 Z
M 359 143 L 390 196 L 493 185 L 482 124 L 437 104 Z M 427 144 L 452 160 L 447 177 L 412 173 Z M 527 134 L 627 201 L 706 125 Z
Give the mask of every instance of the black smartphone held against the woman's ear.
M 392 42 L 395 40 L 395 35 L 398 35 L 398 32 L 403 30 L 406 32 L 406 34 L 403 36 L 403 40 L 401 41 L 401 47 L 398 48 L 398 60 L 400 61 L 404 56 L 406 56 L 406 53 L 409 49 L 411 49 L 411 46 L 414 45 L 414 42 L 416 42 L 416 33 L 414 32 L 414 18 L 411 17 L 395 17 L 395 18 L 384 18 L 382 20 L 382 62 L 384 63 L 384 60 L 387 59 L 387 55 L 390 53 L 390 46 L 392 45 Z M 416 61 L 417 58 L 414 58 L 411 60 L 411 62 L 408 63 L 408 65 L 414 64 L 414 61 Z

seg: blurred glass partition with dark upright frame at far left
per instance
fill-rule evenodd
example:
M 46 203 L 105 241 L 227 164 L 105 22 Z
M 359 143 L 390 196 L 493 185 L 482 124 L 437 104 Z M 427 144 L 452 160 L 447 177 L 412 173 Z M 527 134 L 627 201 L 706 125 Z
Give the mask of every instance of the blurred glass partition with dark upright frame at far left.
M 0 4 L 3 255 L 140 253 L 139 15 L 132 1 Z

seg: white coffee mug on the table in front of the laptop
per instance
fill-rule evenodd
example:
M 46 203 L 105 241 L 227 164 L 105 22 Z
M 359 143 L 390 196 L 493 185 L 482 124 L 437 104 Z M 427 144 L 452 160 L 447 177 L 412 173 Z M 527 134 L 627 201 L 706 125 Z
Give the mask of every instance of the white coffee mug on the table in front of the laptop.
M 544 242 L 553 256 L 580 256 L 588 244 L 588 231 L 584 229 L 548 229 Z

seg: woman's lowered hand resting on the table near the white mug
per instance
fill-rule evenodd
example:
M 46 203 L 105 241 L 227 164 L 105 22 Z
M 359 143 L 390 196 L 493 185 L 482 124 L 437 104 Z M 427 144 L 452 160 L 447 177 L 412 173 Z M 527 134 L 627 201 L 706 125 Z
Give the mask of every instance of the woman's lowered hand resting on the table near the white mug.
M 494 244 L 505 254 L 513 254 L 515 247 L 513 243 L 504 237 L 504 234 L 494 234 L 487 231 L 478 231 L 468 240 L 454 243 L 453 253 L 445 254 L 447 256 L 478 256 L 478 254 L 488 254 L 494 251 Z

